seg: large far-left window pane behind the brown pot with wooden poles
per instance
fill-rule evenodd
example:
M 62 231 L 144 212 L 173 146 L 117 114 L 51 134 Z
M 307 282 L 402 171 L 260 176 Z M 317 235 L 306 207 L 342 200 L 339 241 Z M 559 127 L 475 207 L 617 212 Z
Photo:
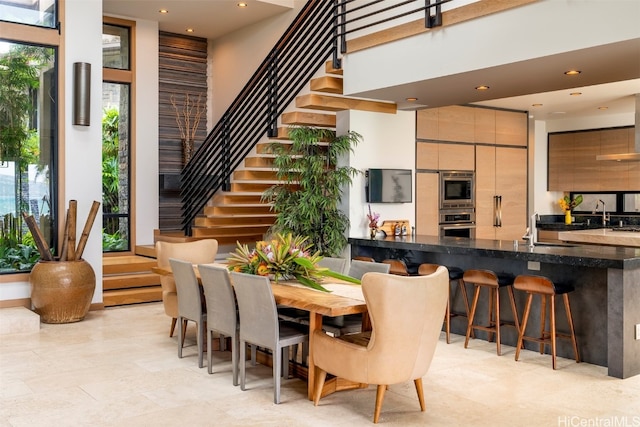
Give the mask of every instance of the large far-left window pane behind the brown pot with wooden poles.
M 0 273 L 40 257 L 23 213 L 55 247 L 57 96 L 56 49 L 0 40 Z

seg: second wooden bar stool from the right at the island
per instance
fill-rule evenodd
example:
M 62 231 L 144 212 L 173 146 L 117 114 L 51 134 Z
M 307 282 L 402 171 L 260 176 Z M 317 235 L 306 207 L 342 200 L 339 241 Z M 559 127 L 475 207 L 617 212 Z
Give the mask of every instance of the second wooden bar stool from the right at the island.
M 469 313 L 469 324 L 467 326 L 467 336 L 464 340 L 464 348 L 469 344 L 469 337 L 474 329 L 486 331 L 489 333 L 488 340 L 491 341 L 492 334 L 496 334 L 496 347 L 498 356 L 501 355 L 500 350 L 500 327 L 503 325 L 513 326 L 520 335 L 520 323 L 518 321 L 518 310 L 516 309 L 516 300 L 513 297 L 513 278 L 505 275 L 498 276 L 489 270 L 467 270 L 464 272 L 463 281 L 471 283 L 475 287 L 473 295 L 473 303 Z M 473 323 L 478 307 L 478 297 L 480 296 L 480 288 L 489 289 L 489 324 L 487 326 L 477 325 Z M 511 311 L 513 312 L 514 322 L 500 321 L 500 288 L 506 287 L 509 294 L 509 302 L 511 303 Z

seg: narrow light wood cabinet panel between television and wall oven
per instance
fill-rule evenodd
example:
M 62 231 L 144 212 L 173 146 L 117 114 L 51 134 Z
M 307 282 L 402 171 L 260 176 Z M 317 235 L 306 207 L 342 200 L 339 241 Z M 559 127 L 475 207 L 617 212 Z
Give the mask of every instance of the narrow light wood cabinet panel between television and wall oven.
M 436 172 L 416 173 L 416 233 L 438 235 L 438 183 Z

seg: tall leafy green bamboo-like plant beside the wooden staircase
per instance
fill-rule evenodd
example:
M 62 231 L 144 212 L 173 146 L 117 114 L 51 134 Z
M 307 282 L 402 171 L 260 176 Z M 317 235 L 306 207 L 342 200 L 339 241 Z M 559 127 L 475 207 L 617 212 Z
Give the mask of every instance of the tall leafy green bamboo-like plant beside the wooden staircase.
M 273 203 L 277 217 L 271 232 L 307 236 L 323 256 L 338 256 L 347 244 L 348 216 L 339 208 L 346 186 L 359 171 L 339 166 L 362 136 L 356 132 L 336 136 L 329 129 L 289 128 L 291 143 L 273 142 L 274 167 L 284 184 L 263 194 Z

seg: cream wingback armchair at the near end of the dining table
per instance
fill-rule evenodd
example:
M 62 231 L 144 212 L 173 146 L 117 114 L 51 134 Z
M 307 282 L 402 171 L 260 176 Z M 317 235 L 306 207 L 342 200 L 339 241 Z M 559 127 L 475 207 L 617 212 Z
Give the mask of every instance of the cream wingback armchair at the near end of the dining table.
M 445 267 L 429 276 L 367 273 L 362 292 L 372 331 L 333 338 L 313 335 L 316 367 L 314 404 L 317 406 L 327 373 L 363 384 L 376 384 L 377 423 L 387 386 L 413 380 L 420 409 L 425 410 L 422 377 L 427 373 L 442 328 L 449 275 Z M 348 341 L 347 341 L 348 340 Z

